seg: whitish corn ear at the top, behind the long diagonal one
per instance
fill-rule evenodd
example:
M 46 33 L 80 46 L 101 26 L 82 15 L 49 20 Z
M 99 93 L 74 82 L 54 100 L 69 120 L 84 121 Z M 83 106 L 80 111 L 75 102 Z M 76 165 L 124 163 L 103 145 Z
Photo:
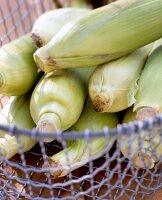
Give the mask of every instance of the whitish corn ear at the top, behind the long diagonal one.
M 84 16 L 88 11 L 86 8 L 60 8 L 42 14 L 32 28 L 32 39 L 36 47 L 47 44 L 65 24 Z

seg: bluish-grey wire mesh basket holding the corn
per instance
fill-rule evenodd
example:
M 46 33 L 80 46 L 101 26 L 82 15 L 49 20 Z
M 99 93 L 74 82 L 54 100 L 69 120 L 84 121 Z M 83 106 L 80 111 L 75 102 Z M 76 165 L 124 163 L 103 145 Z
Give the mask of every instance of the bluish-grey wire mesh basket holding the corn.
M 28 33 L 35 19 L 47 10 L 56 8 L 52 0 L 1 0 L 0 2 L 0 41 L 1 45 Z M 1 96 L 1 109 L 9 97 Z M 153 199 L 158 191 L 158 199 L 162 199 L 162 156 L 152 169 L 134 167 L 133 157 L 127 159 L 121 153 L 119 138 L 126 139 L 127 151 L 131 152 L 135 138 L 138 138 L 136 153 L 142 151 L 145 138 L 150 141 L 146 152 L 152 149 L 151 156 L 156 156 L 157 149 L 162 151 L 162 116 L 124 125 L 117 128 L 105 128 L 100 132 L 56 132 L 40 134 L 19 129 L 15 126 L 0 125 L 0 130 L 15 136 L 19 146 L 19 154 L 7 160 L 0 155 L 0 199 Z M 144 132 L 141 137 L 140 133 Z M 159 141 L 153 147 L 156 132 Z M 23 152 L 19 144 L 20 134 L 32 136 L 37 144 L 28 152 Z M 130 137 L 130 135 L 133 137 Z M 43 143 L 42 138 L 56 139 L 51 143 Z M 113 145 L 110 145 L 110 137 Z M 94 139 L 104 139 L 105 147 L 97 155 L 92 156 Z M 69 141 L 86 141 L 87 159 L 83 163 L 70 163 L 68 152 Z M 49 167 L 49 159 L 57 152 L 64 152 L 65 166 Z M 160 151 L 160 150 L 159 150 Z M 143 159 L 145 155 L 143 153 Z M 79 167 L 78 167 L 79 166 Z M 74 170 L 75 169 L 75 170 Z M 51 174 L 61 174 L 54 178 Z M 161 197 L 160 197 L 161 196 Z

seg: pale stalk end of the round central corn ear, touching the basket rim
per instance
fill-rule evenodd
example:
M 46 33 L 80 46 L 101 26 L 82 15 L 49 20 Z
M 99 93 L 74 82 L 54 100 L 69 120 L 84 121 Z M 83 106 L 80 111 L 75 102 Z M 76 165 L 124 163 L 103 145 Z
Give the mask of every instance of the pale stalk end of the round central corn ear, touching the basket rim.
M 45 113 L 40 117 L 37 123 L 37 129 L 42 132 L 48 132 L 54 134 L 57 130 L 60 129 L 60 119 L 54 113 Z M 52 142 L 52 141 L 53 141 L 52 138 L 44 139 L 44 142 Z

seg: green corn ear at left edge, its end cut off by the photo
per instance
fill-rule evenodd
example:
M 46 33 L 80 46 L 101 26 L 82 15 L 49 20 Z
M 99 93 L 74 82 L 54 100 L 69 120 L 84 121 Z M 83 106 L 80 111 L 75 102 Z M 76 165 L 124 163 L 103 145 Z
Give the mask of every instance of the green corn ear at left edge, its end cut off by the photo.
M 29 91 L 39 77 L 33 60 L 35 47 L 29 35 L 0 48 L 0 93 L 18 96 Z

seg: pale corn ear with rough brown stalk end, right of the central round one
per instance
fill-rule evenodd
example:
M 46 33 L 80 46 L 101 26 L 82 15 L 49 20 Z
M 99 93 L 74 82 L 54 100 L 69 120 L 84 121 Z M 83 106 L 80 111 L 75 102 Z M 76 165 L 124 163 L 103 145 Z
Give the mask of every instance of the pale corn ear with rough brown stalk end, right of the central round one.
M 89 95 L 97 112 L 118 112 L 135 103 L 137 81 L 153 44 L 99 66 L 89 81 Z

